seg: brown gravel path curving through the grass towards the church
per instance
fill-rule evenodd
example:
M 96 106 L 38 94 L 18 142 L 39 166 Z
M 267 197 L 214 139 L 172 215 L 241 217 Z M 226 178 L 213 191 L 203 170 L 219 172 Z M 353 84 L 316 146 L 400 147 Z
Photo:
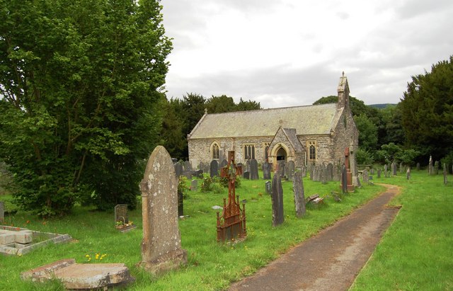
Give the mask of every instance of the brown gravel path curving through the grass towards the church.
M 386 204 L 399 188 L 382 185 L 377 198 L 229 290 L 348 290 L 398 213 Z

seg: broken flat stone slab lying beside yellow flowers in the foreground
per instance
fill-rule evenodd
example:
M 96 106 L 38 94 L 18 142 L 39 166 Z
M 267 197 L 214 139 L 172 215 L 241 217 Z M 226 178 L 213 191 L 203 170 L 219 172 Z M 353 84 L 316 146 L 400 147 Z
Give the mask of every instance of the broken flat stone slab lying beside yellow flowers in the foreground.
M 21 273 L 22 280 L 45 282 L 53 278 L 71 290 L 104 289 L 125 285 L 135 280 L 124 263 L 76 263 L 65 258 Z

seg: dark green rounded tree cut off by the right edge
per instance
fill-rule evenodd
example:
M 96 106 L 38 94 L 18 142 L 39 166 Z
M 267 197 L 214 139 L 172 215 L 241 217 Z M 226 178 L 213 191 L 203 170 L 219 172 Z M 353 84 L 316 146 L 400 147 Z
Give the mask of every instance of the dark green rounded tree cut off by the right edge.
M 408 143 L 440 159 L 453 152 L 453 57 L 432 65 L 431 72 L 412 76 L 401 100 Z

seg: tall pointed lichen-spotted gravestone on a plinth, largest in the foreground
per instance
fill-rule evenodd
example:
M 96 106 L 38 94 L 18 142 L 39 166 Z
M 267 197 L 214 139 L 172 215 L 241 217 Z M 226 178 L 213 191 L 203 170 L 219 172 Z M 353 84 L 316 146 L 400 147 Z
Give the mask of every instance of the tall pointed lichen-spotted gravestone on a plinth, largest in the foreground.
M 187 263 L 178 228 L 178 181 L 170 154 L 157 146 L 149 156 L 142 192 L 143 240 L 139 266 L 159 274 Z

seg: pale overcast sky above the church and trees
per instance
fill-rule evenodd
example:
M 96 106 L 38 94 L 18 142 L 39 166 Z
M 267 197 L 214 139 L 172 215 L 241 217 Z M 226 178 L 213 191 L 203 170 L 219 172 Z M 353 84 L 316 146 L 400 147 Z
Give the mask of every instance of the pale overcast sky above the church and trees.
M 231 96 L 263 108 L 336 95 L 398 103 L 411 76 L 453 55 L 452 0 L 162 0 L 173 38 L 168 98 Z

